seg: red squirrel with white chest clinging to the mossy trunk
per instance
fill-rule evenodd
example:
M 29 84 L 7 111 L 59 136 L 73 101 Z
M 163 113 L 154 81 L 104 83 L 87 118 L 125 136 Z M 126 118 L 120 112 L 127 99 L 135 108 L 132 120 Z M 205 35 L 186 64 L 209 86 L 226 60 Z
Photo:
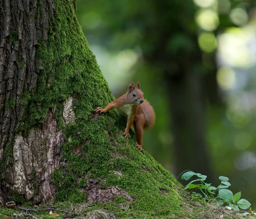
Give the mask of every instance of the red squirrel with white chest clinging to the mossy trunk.
M 125 129 L 125 138 L 129 138 L 129 130 L 132 125 L 134 125 L 134 131 L 137 139 L 136 147 L 143 151 L 142 139 L 143 130 L 149 129 L 153 126 L 155 121 L 155 113 L 153 107 L 144 100 L 144 94 L 140 89 L 140 83 L 137 82 L 137 88 L 134 82 L 129 85 L 128 92 L 115 101 L 108 104 L 107 107 L 102 109 L 97 107 L 95 112 L 107 112 L 110 109 L 118 108 L 122 114 L 127 117 L 127 124 Z

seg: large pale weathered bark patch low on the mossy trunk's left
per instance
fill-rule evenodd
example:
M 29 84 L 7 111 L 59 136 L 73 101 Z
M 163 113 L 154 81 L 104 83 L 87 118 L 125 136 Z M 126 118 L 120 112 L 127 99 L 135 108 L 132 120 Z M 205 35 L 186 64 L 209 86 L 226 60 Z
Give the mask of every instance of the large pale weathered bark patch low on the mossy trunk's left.
M 63 142 L 64 133 L 58 131 L 55 109 L 49 109 L 42 128 L 32 128 L 27 137 L 15 135 L 13 164 L 6 168 L 12 175 L 8 181 L 3 179 L 3 184 L 24 194 L 27 200 L 33 198 L 35 203 L 53 201 L 55 187 L 50 175 L 60 167 Z

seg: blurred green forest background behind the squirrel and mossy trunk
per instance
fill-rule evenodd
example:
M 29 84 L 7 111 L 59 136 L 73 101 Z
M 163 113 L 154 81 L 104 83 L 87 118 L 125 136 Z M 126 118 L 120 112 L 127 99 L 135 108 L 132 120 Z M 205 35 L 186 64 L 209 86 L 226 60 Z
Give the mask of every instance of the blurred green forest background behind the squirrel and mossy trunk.
M 156 112 L 143 147 L 175 177 L 230 178 L 256 208 L 256 0 L 76 0 L 113 95 Z M 178 178 L 180 180 L 180 178 Z M 186 182 L 184 182 L 186 184 Z

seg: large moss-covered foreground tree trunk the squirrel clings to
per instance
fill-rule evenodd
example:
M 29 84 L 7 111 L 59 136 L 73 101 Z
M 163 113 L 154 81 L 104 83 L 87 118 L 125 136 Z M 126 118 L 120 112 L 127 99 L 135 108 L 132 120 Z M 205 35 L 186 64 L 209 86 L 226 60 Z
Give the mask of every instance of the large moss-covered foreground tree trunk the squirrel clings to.
M 0 3 L 0 202 L 130 202 L 186 214 L 182 188 L 122 133 L 71 0 Z M 113 66 L 114 67 L 114 66 Z

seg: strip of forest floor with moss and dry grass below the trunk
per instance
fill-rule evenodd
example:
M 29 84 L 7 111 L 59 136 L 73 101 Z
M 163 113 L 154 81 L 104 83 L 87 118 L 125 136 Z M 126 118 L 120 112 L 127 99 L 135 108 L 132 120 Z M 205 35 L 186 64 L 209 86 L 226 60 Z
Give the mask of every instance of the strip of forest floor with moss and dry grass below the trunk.
M 20 209 L 20 208 L 23 209 Z M 227 210 L 215 203 L 205 203 L 191 207 L 183 206 L 192 215 L 157 215 L 155 212 L 131 210 L 129 204 L 110 203 L 84 203 L 72 204 L 67 202 L 54 202 L 40 206 L 27 203 L 15 208 L 0 207 L 0 219 L 256 219 L 255 215 L 244 215 L 241 212 Z M 54 210 L 53 210 L 54 209 Z M 66 211 L 66 212 L 64 212 Z

